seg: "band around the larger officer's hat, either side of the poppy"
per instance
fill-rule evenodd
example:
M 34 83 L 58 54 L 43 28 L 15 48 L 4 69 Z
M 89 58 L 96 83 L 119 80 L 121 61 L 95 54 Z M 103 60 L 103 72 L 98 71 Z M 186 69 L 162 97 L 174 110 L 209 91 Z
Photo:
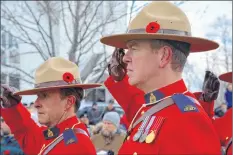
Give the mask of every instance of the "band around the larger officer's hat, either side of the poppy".
M 128 33 L 146 33 L 146 30 L 145 29 L 132 29 L 132 30 L 129 30 Z M 179 30 L 171 30 L 171 29 L 160 29 L 156 32 L 156 34 L 172 34 L 172 35 L 179 35 L 179 36 L 188 36 L 190 37 L 191 36 L 191 33 L 190 32 L 186 32 L 186 31 L 179 31 Z M 149 33 L 150 34 L 150 33 Z

